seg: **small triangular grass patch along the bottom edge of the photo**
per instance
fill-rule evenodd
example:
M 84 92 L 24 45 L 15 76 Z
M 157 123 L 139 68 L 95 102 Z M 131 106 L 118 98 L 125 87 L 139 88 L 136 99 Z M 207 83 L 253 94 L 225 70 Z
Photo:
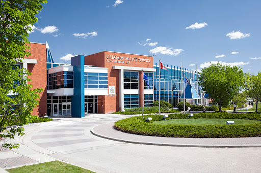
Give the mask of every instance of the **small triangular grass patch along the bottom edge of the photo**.
M 73 166 L 68 163 L 60 162 L 60 161 L 52 161 L 52 162 L 46 162 L 46 163 L 39 163 L 34 164 L 30 166 L 22 166 L 18 168 L 13 169 L 7 169 L 7 171 L 11 173 L 77 173 L 77 172 L 93 172 L 78 166 Z

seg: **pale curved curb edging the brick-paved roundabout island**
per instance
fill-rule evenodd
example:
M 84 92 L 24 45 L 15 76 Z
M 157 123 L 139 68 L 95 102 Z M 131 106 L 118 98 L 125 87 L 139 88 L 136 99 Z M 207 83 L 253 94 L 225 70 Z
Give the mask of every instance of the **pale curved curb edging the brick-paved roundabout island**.
M 97 125 L 98 126 L 98 125 Z M 96 126 L 95 126 L 96 127 Z M 114 137 L 109 137 L 105 135 L 98 134 L 94 132 L 94 128 L 91 129 L 91 133 L 95 136 L 102 137 L 107 140 L 119 141 L 124 143 L 132 143 L 132 144 L 144 144 L 144 145 L 154 145 L 154 146 L 169 146 L 169 147 L 202 147 L 202 148 L 253 148 L 253 147 L 261 147 L 261 145 L 200 145 L 200 144 L 167 144 L 167 143 L 153 143 L 153 142 L 142 142 L 142 141 L 129 141 L 117 139 Z

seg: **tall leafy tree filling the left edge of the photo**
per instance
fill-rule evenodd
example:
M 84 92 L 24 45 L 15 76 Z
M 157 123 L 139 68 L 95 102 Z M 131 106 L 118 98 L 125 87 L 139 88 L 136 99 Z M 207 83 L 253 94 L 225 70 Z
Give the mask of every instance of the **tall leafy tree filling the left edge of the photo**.
M 23 125 L 31 122 L 38 93 L 28 84 L 29 71 L 16 66 L 30 54 L 28 31 L 37 22 L 36 14 L 46 0 L 10 0 L 0 2 L 0 142 L 2 147 L 17 148 L 8 144 L 15 134 L 23 134 Z

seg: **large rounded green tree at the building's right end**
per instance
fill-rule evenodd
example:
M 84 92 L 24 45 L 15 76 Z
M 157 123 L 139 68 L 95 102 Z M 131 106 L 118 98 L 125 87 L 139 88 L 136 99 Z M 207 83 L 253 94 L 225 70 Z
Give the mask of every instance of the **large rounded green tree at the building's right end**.
M 201 70 L 199 85 L 218 103 L 219 111 L 236 95 L 242 85 L 242 68 L 238 66 L 222 65 L 221 63 L 211 64 Z

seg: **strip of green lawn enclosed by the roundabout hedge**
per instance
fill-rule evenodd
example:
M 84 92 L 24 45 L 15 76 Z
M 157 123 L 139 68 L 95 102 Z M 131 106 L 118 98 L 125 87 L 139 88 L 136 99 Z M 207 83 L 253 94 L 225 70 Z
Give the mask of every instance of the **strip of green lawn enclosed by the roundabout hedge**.
M 198 118 L 198 119 L 176 119 L 168 121 L 154 121 L 155 124 L 184 124 L 184 125 L 206 125 L 206 124 L 219 124 L 226 125 L 226 121 L 234 121 L 234 124 L 251 124 L 259 123 L 257 120 L 244 120 L 244 119 L 210 119 L 210 118 Z

